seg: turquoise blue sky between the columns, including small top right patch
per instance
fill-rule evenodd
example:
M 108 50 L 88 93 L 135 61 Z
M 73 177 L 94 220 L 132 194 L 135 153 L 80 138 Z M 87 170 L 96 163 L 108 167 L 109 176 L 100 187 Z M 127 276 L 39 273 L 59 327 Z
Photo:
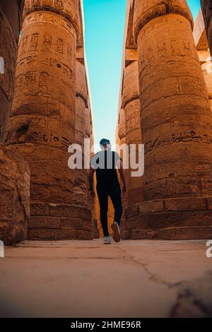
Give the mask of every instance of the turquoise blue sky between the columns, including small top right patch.
M 196 18 L 200 0 L 187 2 Z M 84 0 L 83 4 L 95 143 L 101 138 L 109 138 L 114 144 L 126 0 Z

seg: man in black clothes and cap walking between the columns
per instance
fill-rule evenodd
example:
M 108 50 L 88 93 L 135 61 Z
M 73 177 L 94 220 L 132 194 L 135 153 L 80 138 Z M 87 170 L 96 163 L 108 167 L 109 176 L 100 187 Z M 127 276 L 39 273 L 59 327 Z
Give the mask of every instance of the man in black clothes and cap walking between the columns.
M 96 172 L 97 193 L 100 202 L 100 220 L 105 236 L 104 244 L 111 244 L 107 225 L 108 197 L 110 196 L 114 206 L 114 222 L 112 223 L 113 239 L 115 242 L 121 240 L 119 225 L 122 218 L 122 193 L 126 194 L 126 178 L 122 159 L 119 154 L 111 150 L 110 141 L 103 138 L 100 141 L 101 151 L 96 153 L 90 160 L 89 190 L 91 196 L 95 196 L 93 191 L 93 175 Z M 117 177 L 117 168 L 124 184 L 121 190 Z

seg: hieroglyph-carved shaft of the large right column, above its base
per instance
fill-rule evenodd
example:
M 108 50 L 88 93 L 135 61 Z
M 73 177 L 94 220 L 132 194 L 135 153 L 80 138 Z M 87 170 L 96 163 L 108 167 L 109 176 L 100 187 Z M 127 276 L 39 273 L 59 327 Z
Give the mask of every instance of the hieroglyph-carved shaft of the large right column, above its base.
M 168 13 L 167 2 L 136 0 L 134 11 L 141 125 L 146 145 L 143 190 L 148 200 L 163 195 L 179 197 L 184 192 L 189 194 L 188 190 L 191 195 L 195 190 L 201 196 L 198 177 L 191 176 L 193 184 L 188 190 L 186 185 L 183 189 L 183 183 L 173 189 L 183 172 L 177 167 L 180 162 L 182 165 L 187 162 L 184 169 L 188 171 L 195 162 L 201 170 L 206 167 L 204 161 L 212 162 L 212 115 L 192 36 L 192 16 L 186 1 L 170 1 Z M 187 150 L 189 157 L 184 160 Z M 160 165 L 160 172 L 155 172 L 155 165 Z M 159 179 L 161 183 L 163 179 L 167 182 L 166 191 L 160 191 Z M 204 183 L 206 191 L 209 190 L 208 178 Z

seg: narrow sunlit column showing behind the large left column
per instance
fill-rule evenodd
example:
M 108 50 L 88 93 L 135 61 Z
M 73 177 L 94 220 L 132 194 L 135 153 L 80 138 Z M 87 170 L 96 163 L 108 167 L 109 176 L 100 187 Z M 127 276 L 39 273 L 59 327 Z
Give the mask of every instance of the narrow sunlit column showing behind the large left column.
M 75 112 L 75 142 L 81 145 L 84 160 L 84 139 L 90 140 L 90 148 L 94 144 L 93 135 L 93 114 L 90 102 L 90 86 L 85 57 L 84 45 L 84 20 L 83 20 L 83 2 L 80 6 L 81 31 L 76 48 L 76 112 Z M 90 151 L 90 158 L 93 152 Z M 92 212 L 91 232 L 93 238 L 99 237 L 98 223 L 96 220 L 95 198 L 90 196 L 88 191 L 89 170 L 78 170 L 74 181 L 74 199 L 76 203 L 86 205 Z

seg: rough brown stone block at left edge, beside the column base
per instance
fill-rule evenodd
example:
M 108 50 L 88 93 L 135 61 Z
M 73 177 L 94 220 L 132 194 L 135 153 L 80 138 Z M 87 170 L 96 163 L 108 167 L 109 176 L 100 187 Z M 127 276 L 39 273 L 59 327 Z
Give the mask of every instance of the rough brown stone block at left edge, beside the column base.
M 27 238 L 30 220 L 30 168 L 0 143 L 0 239 L 13 244 Z

